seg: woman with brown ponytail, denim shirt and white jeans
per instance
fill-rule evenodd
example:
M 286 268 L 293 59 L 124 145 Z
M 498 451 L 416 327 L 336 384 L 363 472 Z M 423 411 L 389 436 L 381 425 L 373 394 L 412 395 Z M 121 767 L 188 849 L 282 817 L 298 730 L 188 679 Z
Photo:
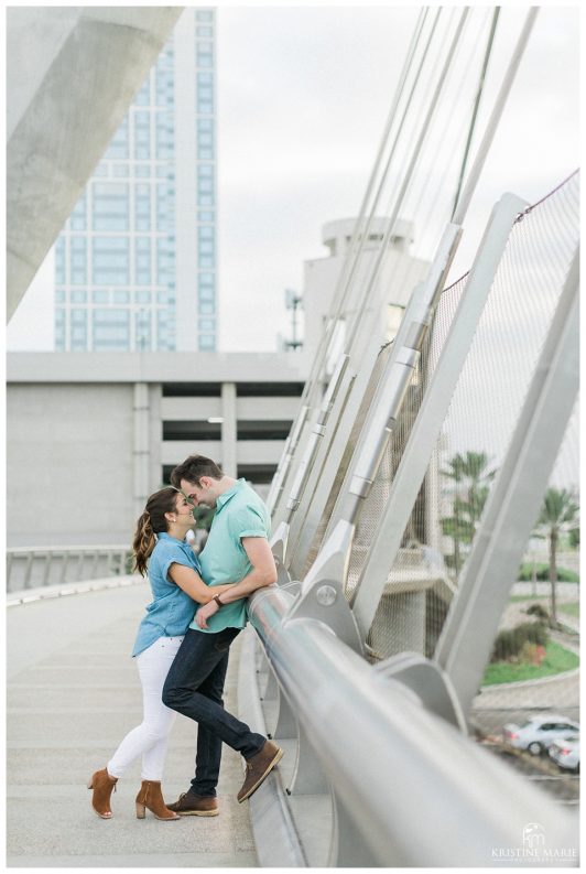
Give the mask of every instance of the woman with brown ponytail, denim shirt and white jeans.
M 216 585 L 213 593 L 202 580 L 200 565 L 185 535 L 194 525 L 192 506 L 176 488 L 162 488 L 151 495 L 137 522 L 132 543 L 134 570 L 143 576 L 149 561 L 149 582 L 154 601 L 146 607 L 132 657 L 142 684 L 143 721 L 133 729 L 101 770 L 89 780 L 94 789 L 91 806 L 102 819 L 111 819 L 110 796 L 130 763 L 142 755 L 142 786 L 137 796 L 137 817 L 144 819 L 149 808 L 156 819 L 181 819 L 169 810 L 161 792 L 161 778 L 167 738 L 176 713 L 165 706 L 161 692 L 171 663 L 193 619 L 196 606 L 230 589 Z

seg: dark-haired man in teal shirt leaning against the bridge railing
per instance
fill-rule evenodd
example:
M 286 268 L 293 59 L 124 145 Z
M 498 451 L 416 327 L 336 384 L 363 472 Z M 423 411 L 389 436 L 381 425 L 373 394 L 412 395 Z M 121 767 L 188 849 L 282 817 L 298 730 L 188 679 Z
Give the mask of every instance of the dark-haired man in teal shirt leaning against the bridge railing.
M 221 598 L 211 601 L 211 607 L 199 618 L 196 613 L 163 687 L 163 703 L 198 724 L 191 788 L 167 807 L 182 816 L 215 817 L 219 812 L 216 786 L 223 742 L 241 753 L 247 763 L 238 801 L 258 789 L 283 755 L 276 744 L 228 713 L 223 702 L 228 650 L 247 623 L 246 598 L 276 582 L 269 546 L 270 517 L 245 479 L 226 476 L 203 455 L 189 455 L 174 468 L 171 482 L 195 506 L 216 507 L 199 555 L 206 582 L 218 585 L 239 581 L 224 591 Z

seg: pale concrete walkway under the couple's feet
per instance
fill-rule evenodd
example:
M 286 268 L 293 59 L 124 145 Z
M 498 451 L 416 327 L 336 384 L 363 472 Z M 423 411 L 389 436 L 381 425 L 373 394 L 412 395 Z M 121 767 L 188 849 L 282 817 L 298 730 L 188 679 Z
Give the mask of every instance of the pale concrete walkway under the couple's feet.
M 256 867 L 248 803 L 236 792 L 241 758 L 224 746 L 220 814 L 137 820 L 140 762 L 112 795 L 111 820 L 91 810 L 86 784 L 141 721 L 130 651 L 150 601 L 146 583 L 8 608 L 7 865 L 11 867 Z M 225 702 L 237 712 L 238 639 Z M 178 715 L 166 799 L 188 788 L 196 727 Z

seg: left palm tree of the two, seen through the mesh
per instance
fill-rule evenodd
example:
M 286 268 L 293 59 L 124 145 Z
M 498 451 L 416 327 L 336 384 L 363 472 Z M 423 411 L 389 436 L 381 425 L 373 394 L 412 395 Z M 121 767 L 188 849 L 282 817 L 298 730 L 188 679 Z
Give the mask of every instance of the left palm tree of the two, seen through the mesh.
M 454 568 L 456 576 L 460 570 L 460 544 L 471 543 L 476 526 L 488 497 L 488 483 L 493 478 L 496 470 L 490 470 L 490 460 L 486 452 L 458 452 L 448 461 L 448 470 L 442 471 L 444 476 L 454 479 L 456 495 L 453 504 L 453 516 L 442 519 L 442 530 L 454 541 Z

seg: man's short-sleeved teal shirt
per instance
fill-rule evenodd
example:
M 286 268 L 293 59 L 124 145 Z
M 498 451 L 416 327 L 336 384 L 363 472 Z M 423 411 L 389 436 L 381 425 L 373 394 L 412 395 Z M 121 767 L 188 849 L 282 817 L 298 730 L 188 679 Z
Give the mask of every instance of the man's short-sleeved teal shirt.
M 216 501 L 216 515 L 211 521 L 205 549 L 199 553 L 202 576 L 210 586 L 221 583 L 238 583 L 252 570 L 242 547 L 243 537 L 271 536 L 271 517 L 262 498 L 246 479 L 238 479 Z M 221 632 L 224 628 L 243 628 L 247 624 L 247 598 L 226 604 L 210 616 L 207 628 L 192 622 L 196 632 Z

